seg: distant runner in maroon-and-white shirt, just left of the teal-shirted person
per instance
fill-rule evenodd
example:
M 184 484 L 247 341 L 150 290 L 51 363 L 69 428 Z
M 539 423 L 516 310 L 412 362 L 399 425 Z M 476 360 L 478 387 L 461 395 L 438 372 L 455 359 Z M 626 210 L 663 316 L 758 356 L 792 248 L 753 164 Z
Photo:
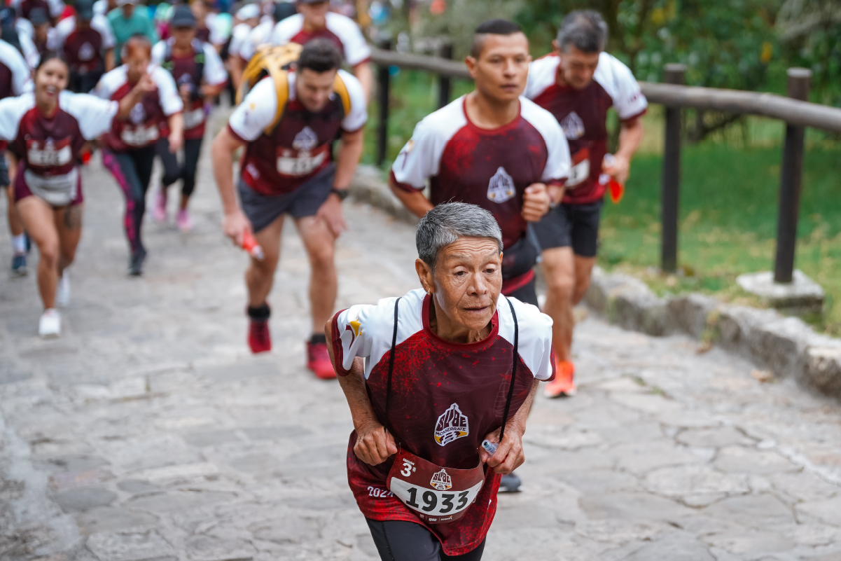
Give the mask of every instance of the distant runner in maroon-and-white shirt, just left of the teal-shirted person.
M 93 13 L 93 0 L 77 0 L 76 15 L 56 24 L 50 50 L 70 66 L 71 92 L 87 93 L 114 68 L 114 33 L 105 16 Z

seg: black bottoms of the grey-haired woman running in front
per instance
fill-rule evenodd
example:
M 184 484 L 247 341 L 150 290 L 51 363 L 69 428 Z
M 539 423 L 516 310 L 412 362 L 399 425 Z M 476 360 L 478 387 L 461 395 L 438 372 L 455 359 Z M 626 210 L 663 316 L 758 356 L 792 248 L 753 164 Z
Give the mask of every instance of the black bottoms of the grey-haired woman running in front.
M 473 551 L 463 555 L 447 555 L 432 532 L 415 522 L 402 520 L 376 521 L 365 519 L 371 537 L 383 561 L 479 561 L 484 540 Z

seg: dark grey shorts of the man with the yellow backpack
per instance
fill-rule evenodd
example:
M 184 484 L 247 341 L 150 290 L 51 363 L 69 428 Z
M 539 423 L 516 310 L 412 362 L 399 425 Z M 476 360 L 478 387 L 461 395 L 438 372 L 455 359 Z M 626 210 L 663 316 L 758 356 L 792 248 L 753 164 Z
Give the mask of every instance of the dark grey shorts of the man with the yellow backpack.
M 240 192 L 242 212 L 251 221 L 251 228 L 255 232 L 272 224 L 281 214 L 291 214 L 294 218 L 313 216 L 330 196 L 335 177 L 336 165 L 331 163 L 301 183 L 292 193 L 279 195 L 257 193 L 240 179 L 237 190 Z

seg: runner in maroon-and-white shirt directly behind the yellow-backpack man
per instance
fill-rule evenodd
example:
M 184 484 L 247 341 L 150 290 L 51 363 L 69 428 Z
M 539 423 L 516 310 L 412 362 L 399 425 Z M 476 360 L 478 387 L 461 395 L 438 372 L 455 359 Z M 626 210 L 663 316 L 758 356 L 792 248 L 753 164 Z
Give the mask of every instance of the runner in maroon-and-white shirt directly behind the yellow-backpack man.
M 298 0 L 297 14 L 278 22 L 272 29 L 269 41 L 274 45 L 299 43 L 305 45 L 313 39 L 331 41 L 351 66 L 353 75 L 362 83 L 366 98 L 371 95 L 373 72 L 371 71 L 371 49 L 355 21 L 341 13 L 330 11 L 329 0 Z M 242 49 L 244 60 L 254 55 L 259 43 L 253 41 Z

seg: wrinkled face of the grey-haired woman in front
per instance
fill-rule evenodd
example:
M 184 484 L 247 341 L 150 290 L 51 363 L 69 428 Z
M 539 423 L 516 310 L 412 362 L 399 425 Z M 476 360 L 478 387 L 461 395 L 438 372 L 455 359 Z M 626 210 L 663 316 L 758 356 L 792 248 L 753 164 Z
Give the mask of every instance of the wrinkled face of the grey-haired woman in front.
M 502 254 L 496 241 L 459 238 L 439 252 L 431 280 L 438 309 L 452 323 L 470 331 L 484 329 L 502 289 Z

